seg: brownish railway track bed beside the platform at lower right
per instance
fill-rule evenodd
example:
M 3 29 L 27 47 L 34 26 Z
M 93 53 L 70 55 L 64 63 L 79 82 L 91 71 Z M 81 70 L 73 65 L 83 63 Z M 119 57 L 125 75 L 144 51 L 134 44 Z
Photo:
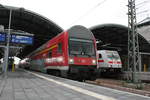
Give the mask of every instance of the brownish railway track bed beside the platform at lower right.
M 95 81 L 86 81 L 86 83 L 113 88 L 121 91 L 136 93 L 150 97 L 150 84 L 133 84 L 115 79 L 97 79 Z

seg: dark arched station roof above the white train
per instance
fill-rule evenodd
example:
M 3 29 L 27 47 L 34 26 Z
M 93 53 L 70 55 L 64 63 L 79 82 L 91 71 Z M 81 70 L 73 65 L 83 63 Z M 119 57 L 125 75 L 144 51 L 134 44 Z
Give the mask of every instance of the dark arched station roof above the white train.
M 128 51 L 128 27 L 118 24 L 102 24 L 90 28 L 98 43 L 98 49 L 118 50 L 122 54 Z M 140 34 L 140 52 L 150 52 L 150 43 Z

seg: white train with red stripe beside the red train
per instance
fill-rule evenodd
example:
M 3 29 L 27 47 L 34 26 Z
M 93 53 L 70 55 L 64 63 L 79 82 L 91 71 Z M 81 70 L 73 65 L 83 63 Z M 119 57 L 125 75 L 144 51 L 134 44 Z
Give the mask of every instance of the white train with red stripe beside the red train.
M 121 72 L 122 62 L 117 51 L 98 50 L 98 70 L 99 73 L 114 73 L 117 75 Z

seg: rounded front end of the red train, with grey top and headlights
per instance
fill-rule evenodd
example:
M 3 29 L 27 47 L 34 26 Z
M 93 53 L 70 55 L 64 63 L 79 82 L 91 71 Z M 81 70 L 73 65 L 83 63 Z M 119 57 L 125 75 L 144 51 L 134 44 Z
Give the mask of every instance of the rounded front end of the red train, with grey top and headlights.
M 97 57 L 96 42 L 91 31 L 81 26 L 68 30 L 68 54 L 69 73 L 86 78 L 94 76 Z

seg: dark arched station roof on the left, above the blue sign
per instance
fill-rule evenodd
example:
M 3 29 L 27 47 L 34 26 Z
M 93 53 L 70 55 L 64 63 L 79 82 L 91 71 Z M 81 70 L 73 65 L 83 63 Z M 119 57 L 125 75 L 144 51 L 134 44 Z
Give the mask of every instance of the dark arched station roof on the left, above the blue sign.
M 24 8 L 0 5 L 0 25 L 8 29 L 10 9 L 12 10 L 11 29 L 34 34 L 34 44 L 26 46 L 19 57 L 24 57 L 37 47 L 62 32 L 63 29 L 53 21 Z

